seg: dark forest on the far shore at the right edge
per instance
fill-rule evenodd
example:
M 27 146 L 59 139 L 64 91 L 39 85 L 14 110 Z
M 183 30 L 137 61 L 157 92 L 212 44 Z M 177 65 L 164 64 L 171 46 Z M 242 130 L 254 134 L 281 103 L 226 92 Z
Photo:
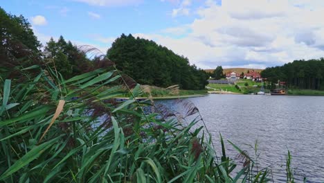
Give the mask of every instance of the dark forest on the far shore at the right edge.
M 282 66 L 268 67 L 261 72 L 274 87 L 278 80 L 289 89 L 324 90 L 324 58 L 318 60 L 295 60 Z

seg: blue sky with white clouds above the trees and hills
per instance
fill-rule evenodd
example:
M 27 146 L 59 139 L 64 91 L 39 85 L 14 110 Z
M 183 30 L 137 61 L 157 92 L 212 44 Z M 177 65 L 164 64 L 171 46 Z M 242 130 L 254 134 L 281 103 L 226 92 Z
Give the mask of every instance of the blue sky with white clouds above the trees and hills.
M 323 0 L 0 0 L 42 44 L 60 35 L 106 53 L 122 33 L 202 69 L 264 69 L 324 57 Z

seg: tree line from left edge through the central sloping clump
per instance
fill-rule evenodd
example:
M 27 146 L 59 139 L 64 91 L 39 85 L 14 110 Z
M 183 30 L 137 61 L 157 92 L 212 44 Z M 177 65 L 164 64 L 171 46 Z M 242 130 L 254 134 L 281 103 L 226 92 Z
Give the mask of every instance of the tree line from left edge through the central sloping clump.
M 99 67 L 111 66 L 108 59 L 90 59 L 86 51 L 80 50 L 62 36 L 56 41 L 51 38 L 43 46 L 27 19 L 22 15 L 10 15 L 1 7 L 0 30 L 2 75 L 8 73 L 8 69 L 12 74 L 12 68 L 19 72 L 19 67 L 42 64 L 44 61 L 52 64 L 66 79 Z M 179 85 L 182 89 L 204 89 L 208 84 L 208 74 L 195 65 L 190 65 L 188 58 L 153 41 L 132 35 L 123 34 L 118 37 L 104 56 L 116 64 L 120 71 L 143 85 Z

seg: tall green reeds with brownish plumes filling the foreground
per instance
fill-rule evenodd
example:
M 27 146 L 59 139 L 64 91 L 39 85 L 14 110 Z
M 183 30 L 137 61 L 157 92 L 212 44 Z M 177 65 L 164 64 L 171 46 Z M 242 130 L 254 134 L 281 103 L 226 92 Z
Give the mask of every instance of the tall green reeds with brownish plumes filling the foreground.
M 183 125 L 144 112 L 150 103 L 134 99 L 141 87 L 117 70 L 69 80 L 50 67 L 21 72 L 24 82 L 0 82 L 0 182 L 269 181 L 269 171 L 252 171 L 253 159 L 232 143 L 245 161 L 237 170 L 222 138 L 217 157 L 206 128 L 192 128 L 201 117 Z M 116 103 L 123 86 L 131 97 Z M 195 112 L 188 107 L 188 116 Z

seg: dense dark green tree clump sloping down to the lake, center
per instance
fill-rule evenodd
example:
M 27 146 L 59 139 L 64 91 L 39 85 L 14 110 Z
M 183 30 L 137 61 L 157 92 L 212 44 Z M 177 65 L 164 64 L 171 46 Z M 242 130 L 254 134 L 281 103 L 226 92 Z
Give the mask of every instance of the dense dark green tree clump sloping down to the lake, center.
M 182 89 L 204 89 L 208 74 L 153 41 L 121 35 L 107 51 L 107 57 L 137 82 L 145 85 Z

